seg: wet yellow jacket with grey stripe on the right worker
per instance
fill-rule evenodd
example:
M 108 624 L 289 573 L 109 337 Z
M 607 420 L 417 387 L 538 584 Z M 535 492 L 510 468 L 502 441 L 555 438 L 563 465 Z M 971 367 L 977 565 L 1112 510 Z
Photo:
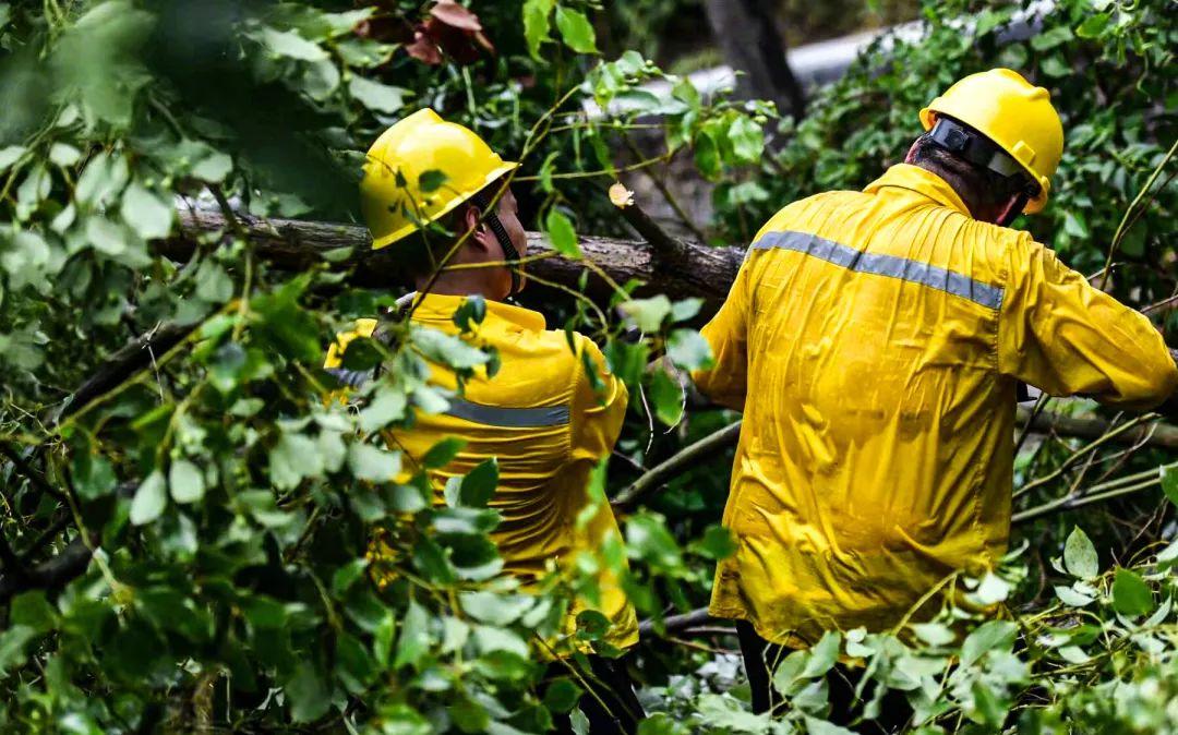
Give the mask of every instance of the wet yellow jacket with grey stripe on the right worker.
M 744 411 L 710 611 L 794 645 L 999 559 L 1018 380 L 1127 408 L 1178 383 L 1149 319 L 909 165 L 777 212 L 703 336 L 699 388 Z

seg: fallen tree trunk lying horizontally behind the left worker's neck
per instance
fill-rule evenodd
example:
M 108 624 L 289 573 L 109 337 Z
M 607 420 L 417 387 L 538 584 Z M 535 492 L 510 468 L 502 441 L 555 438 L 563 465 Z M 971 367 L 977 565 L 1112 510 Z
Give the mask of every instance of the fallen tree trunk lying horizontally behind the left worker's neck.
M 230 225 L 219 211 L 180 208 L 181 236 L 157 245 L 158 251 L 174 260 L 186 260 L 201 234 L 227 231 Z M 329 263 L 333 269 L 352 269 L 351 283 L 364 287 L 403 289 L 404 267 L 398 263 L 397 247 L 371 249 L 368 230 L 358 225 L 303 221 L 296 219 L 258 219 L 238 214 L 253 252 L 277 267 L 304 270 Z M 699 297 L 715 311 L 736 278 L 744 251 L 740 247 L 709 247 L 677 241 L 674 249 L 656 249 L 642 240 L 581 236 L 581 250 L 611 279 L 620 284 L 637 279 L 646 283 L 644 293 L 667 293 L 674 298 Z M 340 250 L 349 251 L 335 259 Z M 577 260 L 556 257 L 538 232 L 528 233 L 528 256 L 549 253 L 552 257 L 527 265 L 537 279 L 575 286 L 584 271 Z M 590 274 L 593 293 L 608 293 L 608 284 Z

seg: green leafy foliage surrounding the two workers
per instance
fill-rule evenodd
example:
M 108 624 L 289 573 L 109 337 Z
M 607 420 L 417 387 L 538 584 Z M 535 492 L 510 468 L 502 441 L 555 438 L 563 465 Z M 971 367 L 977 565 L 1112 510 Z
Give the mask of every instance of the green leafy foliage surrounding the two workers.
M 1014 6 L 927 6 L 926 37 L 876 46 L 813 118 L 782 124 L 770 157 L 772 106 L 706 97 L 634 52 L 598 59 L 594 4 L 339 5 L 0 4 L 6 731 L 543 731 L 581 683 L 541 686 L 537 651 L 614 653 L 593 615 L 561 627 L 602 567 L 656 631 L 669 609 L 706 601 L 714 559 L 732 550 L 716 525 L 722 455 L 626 517 L 600 554 L 554 564 L 524 590 L 499 574 L 488 537 L 497 465 L 455 479 L 438 503 L 426 471 L 454 457 L 455 441 L 419 466 L 385 443 L 384 430 L 452 398 L 426 383 L 426 360 L 459 378 L 494 371 L 496 356 L 471 337 L 481 300 L 455 313 L 462 337 L 383 323 L 388 339 L 349 351 L 346 364 L 379 363 L 382 378 L 353 406 L 332 398 L 324 345 L 395 294 L 350 287 L 339 253 L 303 272 L 272 269 L 236 217 L 353 218 L 359 152 L 410 107 L 434 106 L 517 152 L 524 218 L 578 257 L 578 230 L 618 227 L 603 184 L 650 125 L 661 150 L 638 167 L 688 153 L 719 184 L 721 239 L 736 240 L 779 203 L 862 185 L 957 75 L 1002 60 L 1038 66 L 1063 92 L 1071 137 L 1054 204 L 1032 226 L 1093 270 L 1119 230 L 1118 293 L 1144 304 L 1174 286 L 1172 190 L 1153 190 L 1118 225 L 1174 132 L 1153 104 L 1172 93 L 1154 71 L 1176 33 L 1159 4 L 1055 4 L 1038 35 L 1014 42 L 1001 38 Z M 444 186 L 437 172 L 425 178 L 423 190 Z M 230 225 L 181 233 L 190 208 L 221 210 Z M 680 382 L 646 370 L 655 357 L 679 371 L 712 357 L 693 329 L 699 300 L 634 298 L 637 285 L 614 284 L 608 311 L 569 287 L 548 310 L 603 343 L 629 385 L 620 453 L 644 469 L 732 416 L 684 421 Z M 1025 452 L 1020 482 L 1072 468 L 1080 449 Z M 1141 455 L 1130 459 L 1173 497 L 1173 465 L 1158 471 Z M 626 463 L 600 468 L 591 503 L 633 475 Z M 1157 702 L 1178 689 L 1176 548 L 1146 544 L 1111 569 L 1099 557 L 1116 536 L 1094 542 L 1054 519 L 1039 528 L 1037 547 L 999 572 L 949 582 L 972 608 L 946 604 L 892 633 L 832 633 L 793 654 L 775 680 L 794 704 L 783 720 L 713 690 L 710 650 L 644 643 L 654 716 L 642 731 L 838 733 L 821 684 L 838 655 L 909 693 L 927 733 L 995 731 L 1013 708 L 1026 733 L 1173 728 Z M 1035 590 L 1020 564 L 1033 569 L 1040 554 L 1061 561 L 1039 569 Z M 997 620 L 977 612 L 1006 603 Z

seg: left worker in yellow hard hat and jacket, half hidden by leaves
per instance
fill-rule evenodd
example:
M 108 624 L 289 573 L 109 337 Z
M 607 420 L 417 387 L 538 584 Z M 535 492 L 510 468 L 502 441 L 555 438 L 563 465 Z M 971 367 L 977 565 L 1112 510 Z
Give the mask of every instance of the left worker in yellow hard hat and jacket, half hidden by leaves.
M 498 371 L 466 379 L 458 391 L 454 372 L 432 365 L 430 382 L 458 395 L 448 398 L 443 412 L 418 412 L 411 429 L 393 430 L 389 438 L 409 463 L 421 461 L 443 438 L 464 442 L 431 476 L 438 504 L 444 503 L 446 478 L 497 458 L 498 488 L 489 505 L 502 522 L 491 536 L 505 572 L 527 585 L 544 575 L 551 561 L 571 564 L 580 554 L 598 549 L 607 535 L 618 534 L 608 503 L 602 502 L 588 523 L 578 523 L 578 515 L 589 503 L 590 472 L 621 431 L 627 390 L 608 372 L 591 340 L 548 330 L 542 314 L 507 302 L 523 285 L 518 260 L 528 246 L 505 179 L 517 166 L 469 128 L 422 110 L 386 130 L 369 150 L 360 192 L 373 247 L 397 247 L 398 263 L 424 292 L 406 299 L 413 304 L 415 323 L 456 335 L 455 311 L 468 297 L 485 299 L 474 340 L 496 350 Z M 428 223 L 452 234 L 422 232 Z M 445 270 L 454 265 L 466 267 Z M 377 327 L 376 319 L 362 319 L 331 346 L 325 366 L 344 384 L 355 386 L 371 377 L 344 369 L 343 353 Z M 601 582 L 594 607 L 613 623 L 605 641 L 629 648 L 638 637 L 634 608 L 614 576 L 605 572 Z M 573 605 L 567 634 L 575 633 L 575 616 L 587 607 Z M 588 658 L 591 671 L 583 674 L 596 691 L 582 697 L 581 709 L 590 731 L 635 731 L 642 710 L 623 663 Z M 567 715 L 557 726 L 571 733 Z

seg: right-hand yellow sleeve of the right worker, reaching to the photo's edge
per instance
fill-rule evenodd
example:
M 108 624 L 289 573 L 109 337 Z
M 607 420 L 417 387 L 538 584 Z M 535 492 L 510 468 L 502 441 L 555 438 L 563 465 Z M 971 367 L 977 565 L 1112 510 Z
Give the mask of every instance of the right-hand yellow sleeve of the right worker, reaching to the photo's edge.
M 1008 251 L 998 326 L 999 371 L 1052 396 L 1149 409 L 1178 384 L 1162 335 L 1055 254 L 1020 238 Z

